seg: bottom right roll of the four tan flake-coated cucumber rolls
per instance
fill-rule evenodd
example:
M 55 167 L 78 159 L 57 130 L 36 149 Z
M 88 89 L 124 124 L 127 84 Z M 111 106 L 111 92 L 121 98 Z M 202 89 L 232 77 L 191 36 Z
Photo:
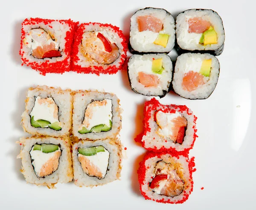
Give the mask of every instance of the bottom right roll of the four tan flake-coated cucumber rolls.
M 79 141 L 73 145 L 75 184 L 93 187 L 121 176 L 122 147 L 116 139 Z

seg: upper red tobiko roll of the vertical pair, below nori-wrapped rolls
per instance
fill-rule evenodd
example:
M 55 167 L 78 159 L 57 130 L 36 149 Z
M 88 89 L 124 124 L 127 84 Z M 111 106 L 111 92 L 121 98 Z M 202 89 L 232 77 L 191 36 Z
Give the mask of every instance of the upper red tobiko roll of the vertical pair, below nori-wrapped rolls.
M 155 98 L 144 105 L 142 144 L 146 150 L 187 154 L 197 137 L 197 117 L 185 105 L 163 105 Z

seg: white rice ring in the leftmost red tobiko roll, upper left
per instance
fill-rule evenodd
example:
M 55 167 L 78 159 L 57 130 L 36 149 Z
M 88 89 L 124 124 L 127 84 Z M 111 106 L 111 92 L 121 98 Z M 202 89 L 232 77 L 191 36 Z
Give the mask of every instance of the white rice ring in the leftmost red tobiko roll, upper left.
M 34 21 L 33 21 L 34 22 Z M 35 23 L 35 25 L 23 25 L 23 30 L 25 32 L 25 37 L 26 34 L 31 30 L 31 29 L 36 29 L 36 28 L 41 28 L 44 29 L 49 35 L 54 37 L 55 42 L 59 44 L 60 51 L 61 51 L 61 57 L 57 58 L 43 58 L 43 59 L 38 59 L 34 58 L 31 54 L 31 48 L 27 47 L 25 43 L 22 44 L 21 47 L 21 52 L 24 52 L 23 58 L 26 60 L 29 60 L 28 62 L 36 62 L 38 64 L 48 62 L 48 63 L 56 63 L 57 61 L 63 61 L 65 58 L 67 58 L 67 55 L 64 53 L 65 49 L 65 44 L 66 44 L 66 33 L 71 30 L 71 27 L 67 23 L 60 23 L 58 21 L 52 21 L 51 23 L 44 24 L 44 22 L 41 23 Z M 70 62 L 70 58 L 68 58 L 68 63 Z

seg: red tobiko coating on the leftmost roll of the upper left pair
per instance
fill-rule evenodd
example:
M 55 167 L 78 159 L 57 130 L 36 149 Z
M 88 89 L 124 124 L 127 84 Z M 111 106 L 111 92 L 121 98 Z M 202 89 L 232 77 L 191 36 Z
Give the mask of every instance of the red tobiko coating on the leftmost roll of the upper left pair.
M 44 23 L 44 25 L 48 25 L 52 22 L 59 22 L 62 25 L 65 23 L 68 26 L 70 26 L 70 30 L 66 32 L 66 36 L 65 36 L 65 47 L 63 50 L 63 53 L 66 55 L 66 58 L 64 60 L 61 61 L 56 61 L 54 63 L 49 63 L 49 60 L 44 60 L 43 62 L 38 61 L 38 62 L 29 62 L 29 60 L 27 60 L 24 57 L 24 51 L 23 51 L 23 39 L 25 38 L 25 31 L 23 26 L 26 25 L 35 25 L 38 23 Z M 30 18 L 30 19 L 25 19 L 21 25 L 22 25 L 22 29 L 21 29 L 21 40 L 20 40 L 20 56 L 21 56 L 21 60 L 22 60 L 22 66 L 23 64 L 26 64 L 27 66 L 30 66 L 32 69 L 35 69 L 37 71 L 40 72 L 41 75 L 46 75 L 46 73 L 63 73 L 65 71 L 70 71 L 70 56 L 71 56 L 71 48 L 72 48 L 72 43 L 73 43 L 73 37 L 75 34 L 75 31 L 78 27 L 79 22 L 73 22 L 72 20 L 49 20 L 49 19 L 42 19 L 42 18 Z M 52 26 L 49 26 L 50 28 L 52 28 Z M 26 47 L 26 46 L 24 46 Z

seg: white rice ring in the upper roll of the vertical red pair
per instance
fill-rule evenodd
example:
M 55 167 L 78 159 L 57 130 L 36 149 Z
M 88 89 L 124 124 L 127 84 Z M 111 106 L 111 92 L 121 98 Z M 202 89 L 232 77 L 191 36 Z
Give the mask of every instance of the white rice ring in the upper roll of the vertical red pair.
M 187 128 L 186 133 L 183 139 L 182 144 L 174 143 L 170 138 L 158 135 L 158 130 L 160 127 L 157 125 L 156 121 L 154 121 L 154 113 L 157 110 L 163 109 L 163 106 L 158 106 L 156 109 L 152 109 L 152 105 L 149 104 L 149 106 L 146 107 L 146 110 L 151 107 L 150 116 L 151 118 L 148 120 L 149 128 L 151 129 L 150 132 L 146 132 L 146 135 L 143 135 L 142 142 L 144 143 L 145 149 L 152 148 L 152 149 L 161 149 L 162 147 L 169 149 L 174 148 L 176 151 L 180 152 L 184 149 L 190 148 L 194 141 L 194 128 L 195 128 L 195 122 L 194 122 L 194 115 L 191 109 L 189 109 L 188 112 L 183 111 L 181 112 L 180 109 L 175 109 L 176 112 L 179 112 L 180 115 L 182 115 L 187 120 Z M 172 106 L 166 106 L 170 109 L 174 109 Z M 194 127 L 194 128 L 193 128 Z

